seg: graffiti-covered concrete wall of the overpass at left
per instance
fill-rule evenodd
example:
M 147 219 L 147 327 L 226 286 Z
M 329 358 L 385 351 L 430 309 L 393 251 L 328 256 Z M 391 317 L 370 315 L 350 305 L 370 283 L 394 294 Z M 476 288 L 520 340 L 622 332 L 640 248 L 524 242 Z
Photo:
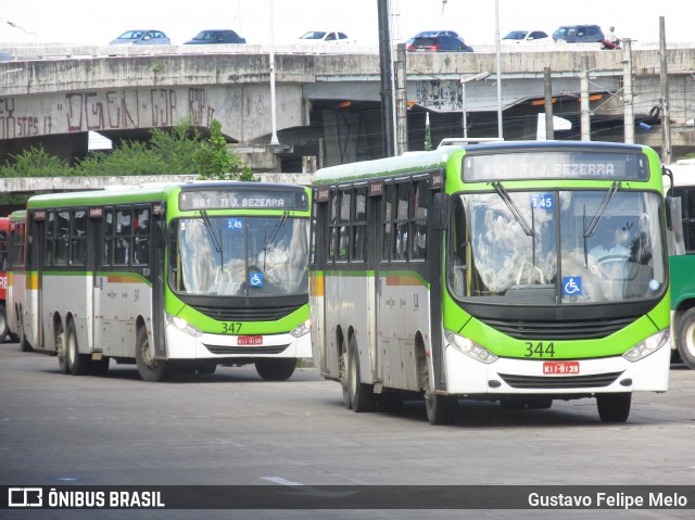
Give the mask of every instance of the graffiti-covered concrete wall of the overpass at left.
M 181 93 L 188 102 L 179 102 Z M 215 107 L 206 98 L 204 88 L 67 92 L 62 101 L 36 112 L 17 98 L 0 98 L 0 139 L 170 127 L 181 121 L 210 126 Z

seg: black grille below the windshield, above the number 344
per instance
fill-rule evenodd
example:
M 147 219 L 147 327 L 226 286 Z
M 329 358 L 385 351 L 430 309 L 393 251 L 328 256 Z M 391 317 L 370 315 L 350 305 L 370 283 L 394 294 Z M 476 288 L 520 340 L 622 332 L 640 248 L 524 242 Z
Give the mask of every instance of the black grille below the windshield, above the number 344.
M 517 340 L 596 340 L 633 324 L 639 316 L 563 321 L 482 319 L 485 325 Z

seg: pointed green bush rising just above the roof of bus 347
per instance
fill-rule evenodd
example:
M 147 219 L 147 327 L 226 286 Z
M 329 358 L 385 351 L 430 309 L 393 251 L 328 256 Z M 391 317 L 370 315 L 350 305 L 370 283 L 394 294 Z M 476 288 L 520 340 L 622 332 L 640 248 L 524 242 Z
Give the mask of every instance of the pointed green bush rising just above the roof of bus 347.
M 200 142 L 193 160 L 201 180 L 255 180 L 251 168 L 227 150 L 222 124 L 217 119 L 211 122 L 210 138 Z

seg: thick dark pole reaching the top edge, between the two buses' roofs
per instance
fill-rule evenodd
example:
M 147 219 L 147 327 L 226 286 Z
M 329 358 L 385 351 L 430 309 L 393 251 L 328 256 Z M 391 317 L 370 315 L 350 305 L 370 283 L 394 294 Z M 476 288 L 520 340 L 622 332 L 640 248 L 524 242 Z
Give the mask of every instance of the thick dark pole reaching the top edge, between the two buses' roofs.
M 393 156 L 393 63 L 389 37 L 389 0 L 377 0 L 379 17 L 379 69 L 381 72 L 381 139 L 383 156 Z

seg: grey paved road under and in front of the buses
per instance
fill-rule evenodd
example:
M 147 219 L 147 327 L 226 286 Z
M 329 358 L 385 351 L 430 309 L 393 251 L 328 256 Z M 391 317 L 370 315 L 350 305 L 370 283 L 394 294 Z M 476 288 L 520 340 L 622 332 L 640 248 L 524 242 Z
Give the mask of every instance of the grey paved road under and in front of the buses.
M 695 371 L 681 367 L 671 369 L 666 394 L 634 396 L 626 424 L 603 424 L 595 402 L 582 399 L 521 411 L 462 402 L 454 426 L 432 427 L 422 403 L 408 403 L 397 414 L 348 411 L 340 386 L 313 368 L 298 369 L 288 382 L 263 381 L 252 367 L 224 367 L 212 376 L 146 383 L 135 366 L 112 365 L 105 378 L 62 376 L 54 357 L 0 345 L 3 485 L 675 485 L 695 483 L 694 444 Z M 21 519 L 193 517 L 193 511 L 0 511 L 0 517 L 9 518 L 5 512 Z M 369 518 L 557 518 L 557 511 L 463 512 L 371 511 Z M 693 509 L 620 512 L 615 518 L 693 517 Z M 327 513 L 253 512 L 254 518 L 308 516 Z M 608 515 L 563 511 L 563 518 Z

